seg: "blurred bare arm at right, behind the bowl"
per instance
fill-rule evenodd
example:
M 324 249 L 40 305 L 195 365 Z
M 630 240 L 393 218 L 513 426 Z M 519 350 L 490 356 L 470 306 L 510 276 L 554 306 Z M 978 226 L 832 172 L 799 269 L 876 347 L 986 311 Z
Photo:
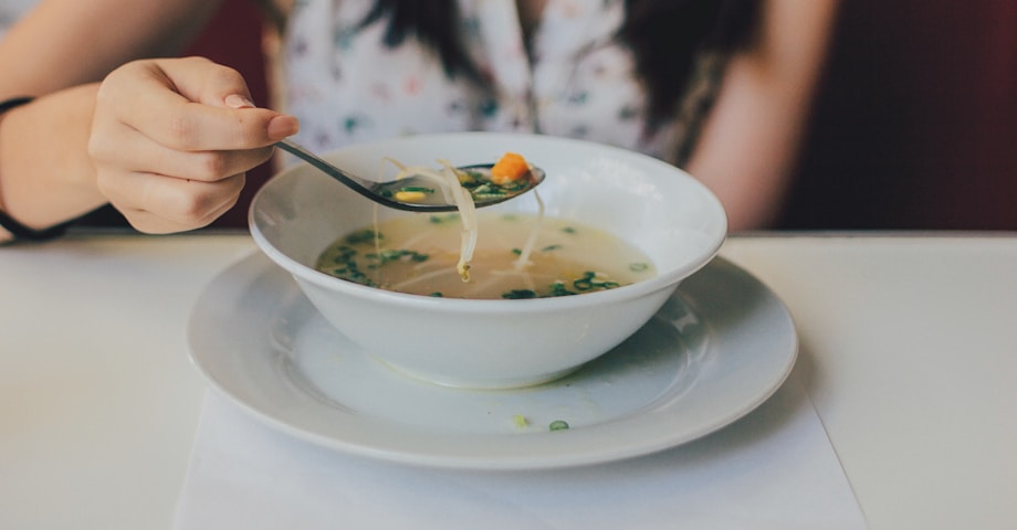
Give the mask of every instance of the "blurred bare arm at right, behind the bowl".
M 727 209 L 732 231 L 769 226 L 783 205 L 837 10 L 767 0 L 755 45 L 736 55 L 689 172 Z

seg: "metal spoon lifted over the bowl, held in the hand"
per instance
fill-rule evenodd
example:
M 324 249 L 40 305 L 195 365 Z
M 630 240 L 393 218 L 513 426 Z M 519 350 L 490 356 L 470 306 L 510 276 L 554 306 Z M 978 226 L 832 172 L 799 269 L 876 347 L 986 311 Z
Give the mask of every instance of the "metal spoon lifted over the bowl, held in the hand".
M 411 212 L 451 212 L 457 210 L 455 204 L 447 202 L 442 193 L 426 193 L 421 200 L 413 202 L 399 201 L 396 199 L 396 194 L 399 191 L 423 188 L 432 189 L 434 183 L 429 180 L 424 180 L 419 177 L 407 177 L 405 179 L 392 180 L 388 182 L 374 182 L 361 179 L 355 174 L 350 174 L 349 172 L 333 166 L 332 163 L 308 151 L 306 148 L 301 147 L 291 140 L 282 140 L 275 144 L 275 147 L 293 153 L 297 158 L 301 158 L 307 163 L 322 170 L 329 177 L 348 186 L 357 193 L 375 202 L 385 204 L 386 206 Z M 461 166 L 455 169 L 478 174 L 480 180 L 490 180 L 492 166 L 494 165 L 480 163 L 475 166 Z M 522 183 L 521 186 L 512 187 L 511 189 L 497 188 L 497 192 L 495 193 L 490 192 L 490 190 L 489 192 L 482 193 L 476 189 L 470 189 L 470 193 L 473 195 L 473 203 L 476 205 L 476 208 L 490 206 L 492 204 L 507 201 L 514 197 L 518 197 L 536 188 L 537 184 L 544 181 L 544 176 L 545 173 L 543 169 L 532 167 L 530 169 L 530 178 L 525 183 Z

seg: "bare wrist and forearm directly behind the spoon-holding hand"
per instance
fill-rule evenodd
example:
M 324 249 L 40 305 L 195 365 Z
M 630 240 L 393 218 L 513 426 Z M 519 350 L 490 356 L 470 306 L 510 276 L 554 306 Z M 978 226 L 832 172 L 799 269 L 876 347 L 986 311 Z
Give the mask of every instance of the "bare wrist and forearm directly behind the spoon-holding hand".
M 0 210 L 30 229 L 106 202 L 87 147 L 96 88 L 56 92 L 0 116 Z

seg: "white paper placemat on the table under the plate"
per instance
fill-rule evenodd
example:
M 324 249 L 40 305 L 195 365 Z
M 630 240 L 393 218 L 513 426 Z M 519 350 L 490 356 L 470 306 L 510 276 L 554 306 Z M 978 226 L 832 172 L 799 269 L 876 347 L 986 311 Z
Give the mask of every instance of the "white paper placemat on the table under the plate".
M 210 391 L 177 530 L 863 529 L 793 377 L 735 424 L 656 455 L 559 470 L 461 471 L 347 456 Z

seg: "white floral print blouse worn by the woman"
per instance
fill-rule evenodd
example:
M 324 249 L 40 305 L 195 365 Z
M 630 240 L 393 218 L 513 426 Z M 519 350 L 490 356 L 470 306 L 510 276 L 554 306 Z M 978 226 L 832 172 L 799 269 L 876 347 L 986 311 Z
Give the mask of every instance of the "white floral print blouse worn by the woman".
M 297 0 L 283 55 L 297 140 L 324 151 L 418 132 L 538 132 L 638 150 L 681 165 L 716 92 L 700 57 L 679 116 L 647 134 L 631 52 L 616 39 L 623 0 L 548 0 L 530 49 L 515 0 L 459 0 L 465 47 L 493 91 L 445 76 L 413 40 L 381 43 L 387 21 L 357 29 L 374 0 Z

